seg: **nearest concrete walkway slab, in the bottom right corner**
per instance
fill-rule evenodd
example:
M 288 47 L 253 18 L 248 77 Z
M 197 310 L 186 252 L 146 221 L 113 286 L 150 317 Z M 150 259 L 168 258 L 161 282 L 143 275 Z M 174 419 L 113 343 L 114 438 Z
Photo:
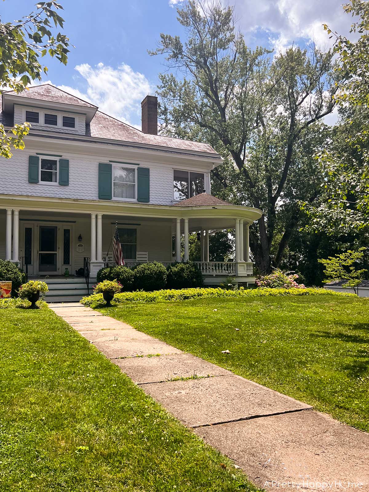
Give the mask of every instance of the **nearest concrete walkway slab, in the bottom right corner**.
M 286 482 L 309 491 L 369 490 L 369 434 L 314 410 L 202 427 L 194 432 L 266 490 Z M 319 486 L 323 482 L 332 487 Z M 348 487 L 349 482 L 356 487 Z

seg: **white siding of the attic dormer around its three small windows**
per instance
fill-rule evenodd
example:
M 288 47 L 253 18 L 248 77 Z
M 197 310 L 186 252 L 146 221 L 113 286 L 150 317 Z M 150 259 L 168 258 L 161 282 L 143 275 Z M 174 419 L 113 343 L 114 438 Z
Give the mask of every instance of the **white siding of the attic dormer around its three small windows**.
M 14 124 L 22 124 L 26 121 L 26 110 L 27 111 L 35 111 L 39 113 L 39 122 L 40 123 L 31 123 L 31 128 L 33 129 L 42 129 L 42 130 L 47 130 L 47 131 L 53 131 L 53 132 L 61 132 L 61 133 L 70 133 L 73 135 L 85 135 L 86 134 L 86 116 L 85 115 L 78 115 L 75 113 L 64 113 L 61 111 L 53 111 L 52 109 L 40 109 L 37 108 L 37 106 L 30 107 L 30 106 L 21 106 L 21 105 L 14 105 Z M 43 123 L 43 113 L 50 113 L 50 114 L 55 114 L 58 115 L 58 118 L 61 119 L 62 116 L 70 116 L 72 118 L 75 118 L 75 128 L 67 128 L 67 127 L 60 127 L 60 126 L 53 126 L 53 125 L 44 125 L 41 124 Z

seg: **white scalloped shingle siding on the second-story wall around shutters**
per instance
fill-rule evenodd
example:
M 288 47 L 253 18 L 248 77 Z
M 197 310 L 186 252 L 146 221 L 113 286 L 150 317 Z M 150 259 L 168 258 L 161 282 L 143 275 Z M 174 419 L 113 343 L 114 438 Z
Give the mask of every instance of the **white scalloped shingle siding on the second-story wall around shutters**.
M 42 150 L 40 150 L 42 152 Z M 0 157 L 0 193 L 56 198 L 80 198 L 98 200 L 98 163 L 101 158 L 76 157 L 69 159 L 69 185 L 32 184 L 28 182 L 30 151 L 14 151 L 10 160 Z M 168 165 L 143 162 L 150 168 L 150 203 L 171 205 L 173 200 L 173 169 Z

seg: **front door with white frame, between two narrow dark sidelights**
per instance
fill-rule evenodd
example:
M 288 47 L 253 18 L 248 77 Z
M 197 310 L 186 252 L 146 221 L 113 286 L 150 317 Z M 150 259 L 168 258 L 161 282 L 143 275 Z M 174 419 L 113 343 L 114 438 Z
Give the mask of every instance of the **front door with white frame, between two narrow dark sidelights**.
M 58 227 L 40 225 L 38 238 L 38 273 L 58 273 Z

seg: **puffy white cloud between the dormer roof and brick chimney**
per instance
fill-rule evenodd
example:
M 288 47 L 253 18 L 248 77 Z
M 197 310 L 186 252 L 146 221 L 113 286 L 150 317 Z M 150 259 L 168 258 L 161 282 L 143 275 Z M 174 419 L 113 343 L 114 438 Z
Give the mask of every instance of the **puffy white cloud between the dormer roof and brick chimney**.
M 141 101 L 154 91 L 144 74 L 135 72 L 125 63 L 118 68 L 103 63 L 94 67 L 83 63 L 75 69 L 86 81 L 86 91 L 70 86 L 57 86 L 59 89 L 89 101 L 98 106 L 100 111 L 141 129 L 138 124 L 141 120 Z

